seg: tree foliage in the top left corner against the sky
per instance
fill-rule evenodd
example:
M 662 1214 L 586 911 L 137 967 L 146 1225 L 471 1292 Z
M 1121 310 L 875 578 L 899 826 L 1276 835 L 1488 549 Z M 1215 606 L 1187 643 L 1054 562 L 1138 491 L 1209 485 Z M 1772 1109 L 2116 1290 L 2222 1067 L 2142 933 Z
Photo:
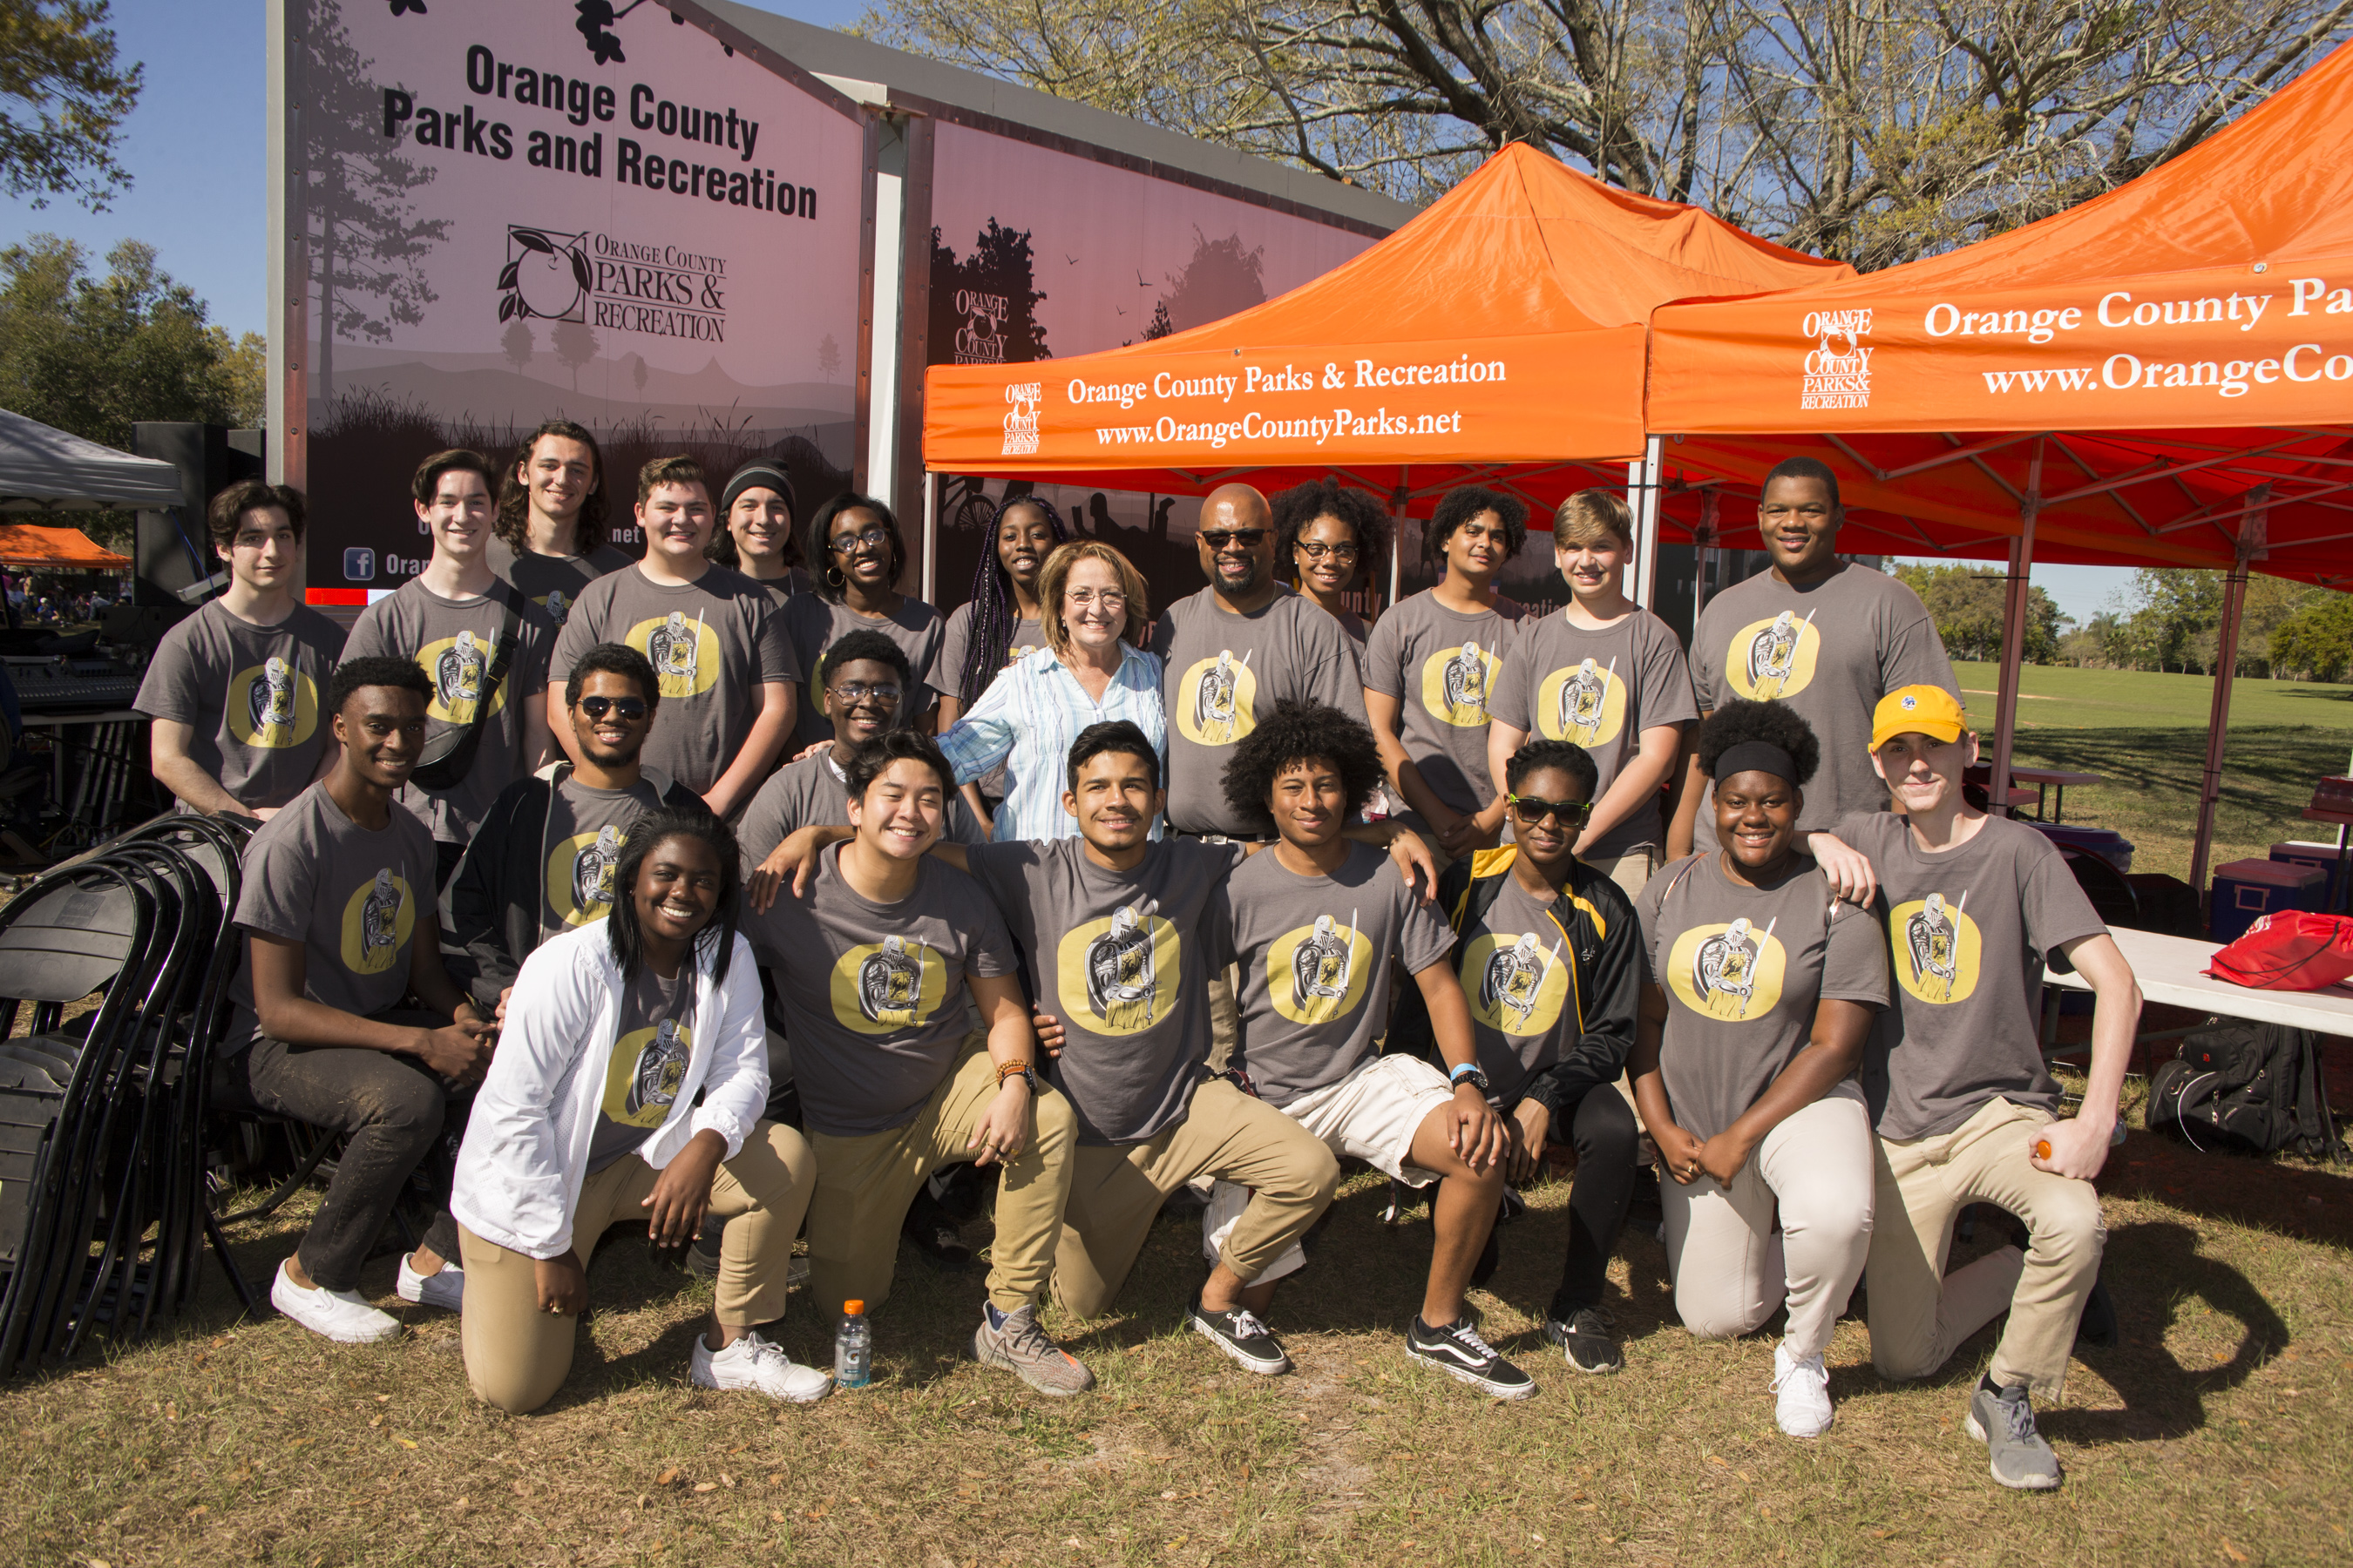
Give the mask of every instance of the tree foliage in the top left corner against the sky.
M 141 73 L 115 61 L 106 0 L 0 0 L 0 190 L 106 212 L 132 183 L 115 141 Z

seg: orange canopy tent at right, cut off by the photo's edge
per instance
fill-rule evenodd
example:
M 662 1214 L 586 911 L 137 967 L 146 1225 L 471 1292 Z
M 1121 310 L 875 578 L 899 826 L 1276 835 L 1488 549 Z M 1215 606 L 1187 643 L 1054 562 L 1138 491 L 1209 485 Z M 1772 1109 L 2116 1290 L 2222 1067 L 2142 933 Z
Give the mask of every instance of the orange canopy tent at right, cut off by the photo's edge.
M 2202 879 L 2249 564 L 2353 588 L 2353 47 L 2198 148 L 1948 256 L 1652 317 L 1671 468 L 1793 451 L 1920 555 L 2007 548 L 1995 773 L 2035 555 L 2228 571 Z M 1682 440 L 1678 440 L 1682 437 Z M 1852 480 L 1849 480 L 1852 475 Z

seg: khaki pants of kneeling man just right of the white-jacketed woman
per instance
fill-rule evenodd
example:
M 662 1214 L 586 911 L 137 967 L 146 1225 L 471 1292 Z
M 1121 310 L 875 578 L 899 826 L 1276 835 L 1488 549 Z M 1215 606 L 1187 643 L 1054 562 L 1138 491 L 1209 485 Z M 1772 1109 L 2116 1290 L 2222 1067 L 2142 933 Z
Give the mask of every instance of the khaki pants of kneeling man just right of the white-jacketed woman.
M 969 1161 L 972 1128 L 998 1098 L 988 1037 L 969 1034 L 965 1056 L 948 1070 L 906 1126 L 864 1138 L 809 1133 L 816 1150 L 816 1197 L 809 1204 L 809 1293 L 840 1321 L 845 1300 L 873 1312 L 889 1300 L 899 1269 L 899 1227 L 932 1171 Z M 988 1248 L 988 1300 L 1019 1312 L 1045 1295 L 1054 1269 L 1054 1237 L 1071 1199 L 1071 1150 L 1078 1117 L 1059 1093 L 1031 1103 L 1021 1152 L 1005 1161 L 998 1187 L 998 1237 Z

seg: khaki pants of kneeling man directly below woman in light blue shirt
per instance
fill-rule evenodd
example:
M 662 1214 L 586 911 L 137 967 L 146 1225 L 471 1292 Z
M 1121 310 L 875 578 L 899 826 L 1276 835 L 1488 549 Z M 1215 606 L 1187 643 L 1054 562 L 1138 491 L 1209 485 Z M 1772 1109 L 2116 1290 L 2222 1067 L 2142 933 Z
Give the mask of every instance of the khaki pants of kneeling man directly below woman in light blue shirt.
M 1339 1161 L 1322 1138 L 1226 1079 L 1195 1088 L 1186 1119 L 1158 1138 L 1085 1145 L 1075 1166 L 1054 1248 L 1054 1300 L 1078 1316 L 1101 1316 L 1136 1267 L 1160 1204 L 1195 1175 L 1252 1190 L 1224 1248 L 1226 1267 L 1245 1281 L 1299 1241 L 1339 1190 Z

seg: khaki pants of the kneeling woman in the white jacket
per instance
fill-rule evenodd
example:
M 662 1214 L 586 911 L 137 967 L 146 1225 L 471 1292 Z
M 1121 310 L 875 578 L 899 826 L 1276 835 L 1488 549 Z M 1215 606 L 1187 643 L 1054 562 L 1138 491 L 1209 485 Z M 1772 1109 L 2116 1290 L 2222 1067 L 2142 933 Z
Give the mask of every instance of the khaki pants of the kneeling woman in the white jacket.
M 729 1220 L 720 1244 L 718 1321 L 753 1328 L 784 1316 L 784 1276 L 793 1262 L 800 1215 L 816 1185 L 809 1145 L 800 1133 L 762 1121 L 734 1159 L 711 1178 L 711 1215 Z M 572 1251 L 595 1251 L 612 1225 L 645 1225 L 645 1204 L 661 1171 L 624 1154 L 586 1182 L 572 1211 Z M 466 1267 L 461 1340 L 473 1392 L 506 1410 L 536 1410 L 572 1371 L 579 1319 L 539 1307 L 539 1274 L 522 1253 L 485 1241 L 464 1225 L 456 1234 Z

